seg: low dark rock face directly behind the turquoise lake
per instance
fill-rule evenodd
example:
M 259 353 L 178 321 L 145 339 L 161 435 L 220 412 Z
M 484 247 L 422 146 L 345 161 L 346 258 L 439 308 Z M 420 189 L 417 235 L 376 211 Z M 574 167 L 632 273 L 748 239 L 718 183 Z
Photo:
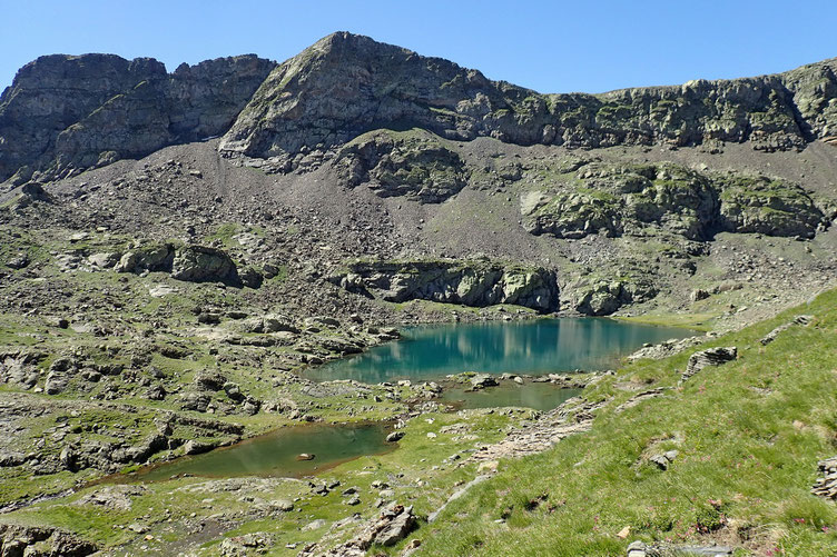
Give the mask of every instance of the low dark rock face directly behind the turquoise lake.
M 512 304 L 554 311 L 559 288 L 554 271 L 489 261 L 356 262 L 331 278 L 346 290 L 386 301 L 431 300 L 485 307 Z

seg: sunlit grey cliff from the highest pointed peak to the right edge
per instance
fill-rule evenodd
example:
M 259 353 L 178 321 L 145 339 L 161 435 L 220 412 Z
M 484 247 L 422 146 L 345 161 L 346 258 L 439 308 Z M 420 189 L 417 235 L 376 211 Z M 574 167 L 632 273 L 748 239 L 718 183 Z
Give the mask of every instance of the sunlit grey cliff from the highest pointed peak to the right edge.
M 791 149 L 837 127 L 837 61 L 778 76 L 692 81 L 605 95 L 540 95 L 436 58 L 334 33 L 278 66 L 221 151 L 287 157 L 375 128 L 444 138 L 608 147 L 754 141 Z

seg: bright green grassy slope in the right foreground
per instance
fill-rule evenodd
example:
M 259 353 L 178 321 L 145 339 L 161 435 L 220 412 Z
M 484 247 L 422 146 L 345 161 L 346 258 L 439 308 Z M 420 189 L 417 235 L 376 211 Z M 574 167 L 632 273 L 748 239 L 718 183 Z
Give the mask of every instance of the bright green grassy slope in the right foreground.
M 759 344 L 802 314 L 816 319 Z M 587 394 L 613 397 L 592 431 L 502 462 L 417 533 L 415 555 L 624 555 L 634 539 L 836 555 L 837 507 L 809 489 L 817 460 L 837 454 L 837 291 L 708 346 L 739 358 L 682 386 L 695 350 L 627 366 Z M 627 382 L 671 389 L 617 412 Z M 668 470 L 648 460 L 670 449 Z

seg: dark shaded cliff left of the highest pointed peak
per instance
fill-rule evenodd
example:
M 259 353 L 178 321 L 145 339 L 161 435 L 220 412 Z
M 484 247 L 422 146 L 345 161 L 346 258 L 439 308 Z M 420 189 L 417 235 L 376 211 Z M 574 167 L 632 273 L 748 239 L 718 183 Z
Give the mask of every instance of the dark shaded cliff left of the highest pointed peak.
M 274 63 L 46 56 L 0 97 L 0 180 L 41 180 L 226 132 Z

